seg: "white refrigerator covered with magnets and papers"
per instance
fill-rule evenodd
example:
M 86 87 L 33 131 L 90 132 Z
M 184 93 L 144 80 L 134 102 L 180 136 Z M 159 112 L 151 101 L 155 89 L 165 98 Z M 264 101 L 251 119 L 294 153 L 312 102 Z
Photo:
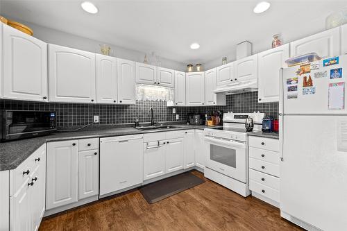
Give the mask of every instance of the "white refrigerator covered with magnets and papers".
M 347 55 L 280 73 L 281 216 L 347 230 Z

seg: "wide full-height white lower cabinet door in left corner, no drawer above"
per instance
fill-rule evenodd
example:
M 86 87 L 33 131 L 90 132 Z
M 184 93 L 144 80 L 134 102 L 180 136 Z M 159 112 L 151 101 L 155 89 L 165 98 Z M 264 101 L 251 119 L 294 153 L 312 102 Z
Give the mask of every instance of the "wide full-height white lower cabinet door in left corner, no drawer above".
M 46 157 L 46 209 L 78 200 L 78 148 L 76 140 L 49 142 Z

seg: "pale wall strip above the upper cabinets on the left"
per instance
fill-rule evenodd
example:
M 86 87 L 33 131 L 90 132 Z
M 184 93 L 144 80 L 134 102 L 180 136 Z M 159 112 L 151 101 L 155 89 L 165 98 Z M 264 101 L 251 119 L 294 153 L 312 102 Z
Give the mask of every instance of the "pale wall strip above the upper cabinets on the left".
M 4 15 L 4 17 L 6 16 L 7 15 Z M 13 17 L 8 17 L 8 18 L 13 19 Z M 72 35 L 62 31 L 57 31 L 52 28 L 39 26 L 37 24 L 31 24 L 29 22 L 23 22 L 22 20 L 20 20 L 19 22 L 22 22 L 23 24 L 26 24 L 27 26 L 31 27 L 34 32 L 33 36 L 47 43 L 57 44 L 61 46 L 68 46 L 71 48 L 80 49 L 83 51 L 90 51 L 94 53 L 100 53 L 99 44 L 104 44 L 104 42 L 101 42 L 101 41 L 91 40 L 86 37 Z M 136 62 L 144 61 L 144 53 L 142 52 L 125 49 L 123 47 L 116 46 L 113 44 L 108 44 L 108 45 L 111 46 L 113 50 L 113 56 L 117 58 L 124 58 L 127 60 L 133 60 Z M 178 71 L 185 70 L 185 64 L 181 62 L 176 62 L 174 60 L 168 60 L 165 58 L 161 58 L 161 62 L 162 62 L 162 65 L 161 65 L 162 67 L 167 67 L 167 68 L 175 69 Z

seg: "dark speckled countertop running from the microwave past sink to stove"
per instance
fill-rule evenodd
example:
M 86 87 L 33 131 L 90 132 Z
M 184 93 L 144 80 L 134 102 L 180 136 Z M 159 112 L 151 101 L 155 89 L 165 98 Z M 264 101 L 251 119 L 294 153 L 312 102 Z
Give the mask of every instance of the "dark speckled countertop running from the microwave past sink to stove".
M 85 139 L 92 137 L 113 137 L 120 135 L 145 134 L 151 132 L 165 132 L 171 130 L 201 129 L 208 126 L 192 126 L 186 124 L 172 123 L 176 128 L 158 129 L 158 130 L 137 130 L 136 128 L 110 128 L 94 127 L 90 130 L 56 132 L 44 137 L 35 137 L 31 139 L 20 139 L 12 142 L 0 143 L 0 171 L 15 169 L 22 164 L 37 148 L 46 142 L 62 141 L 68 139 Z

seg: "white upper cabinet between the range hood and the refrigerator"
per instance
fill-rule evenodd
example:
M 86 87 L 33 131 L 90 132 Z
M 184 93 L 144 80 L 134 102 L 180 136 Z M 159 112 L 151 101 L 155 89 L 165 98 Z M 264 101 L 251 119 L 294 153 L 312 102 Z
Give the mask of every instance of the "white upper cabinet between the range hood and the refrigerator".
M 278 102 L 280 68 L 286 67 L 289 44 L 258 53 L 258 102 Z

